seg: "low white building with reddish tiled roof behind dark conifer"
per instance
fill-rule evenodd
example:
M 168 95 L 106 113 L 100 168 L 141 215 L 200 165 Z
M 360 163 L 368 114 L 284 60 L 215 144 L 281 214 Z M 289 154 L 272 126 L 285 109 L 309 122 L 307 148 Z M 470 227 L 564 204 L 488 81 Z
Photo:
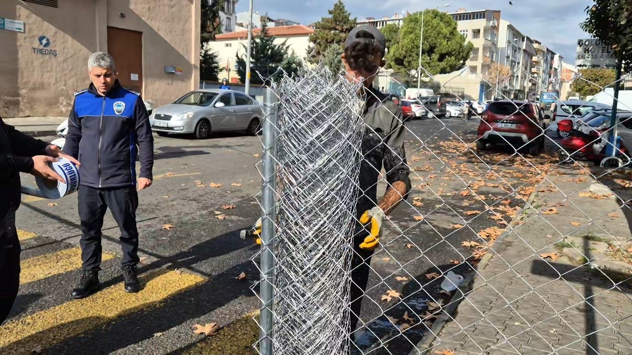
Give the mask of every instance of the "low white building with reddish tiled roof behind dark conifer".
M 253 28 L 252 36 L 255 37 L 260 32 L 260 28 Z M 303 25 L 269 27 L 267 29 L 267 35 L 275 37 L 275 44 L 288 45 L 289 52 L 294 52 L 301 59 L 307 57 L 310 35 L 313 32 L 313 28 Z M 231 83 L 239 81 L 239 76 L 235 70 L 235 60 L 236 56 L 245 56 L 244 47 L 247 44 L 248 31 L 222 33 L 215 36 L 215 41 L 207 43 L 206 48 L 217 53 L 217 59 L 223 69 L 219 73 L 220 80 L 226 78 Z M 253 73 L 253 75 L 256 74 Z

